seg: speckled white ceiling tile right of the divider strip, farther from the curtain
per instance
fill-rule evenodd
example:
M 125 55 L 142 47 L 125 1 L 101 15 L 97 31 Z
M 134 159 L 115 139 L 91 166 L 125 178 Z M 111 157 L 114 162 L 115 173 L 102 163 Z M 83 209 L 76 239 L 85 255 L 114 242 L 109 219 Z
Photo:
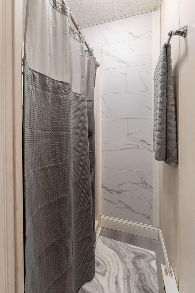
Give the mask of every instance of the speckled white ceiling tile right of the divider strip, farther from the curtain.
M 144 12 L 158 6 L 158 0 L 115 0 L 115 2 L 119 17 Z

